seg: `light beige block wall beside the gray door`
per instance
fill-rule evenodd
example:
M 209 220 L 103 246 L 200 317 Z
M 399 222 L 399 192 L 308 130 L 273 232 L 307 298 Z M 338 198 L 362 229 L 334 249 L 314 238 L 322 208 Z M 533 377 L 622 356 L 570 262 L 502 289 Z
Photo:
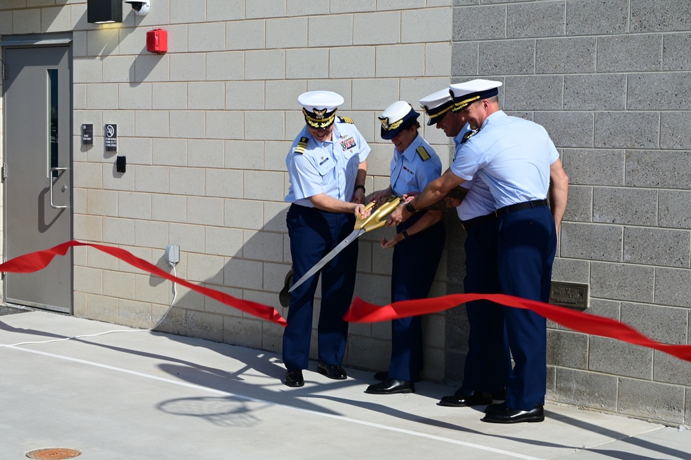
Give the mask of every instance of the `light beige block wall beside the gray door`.
M 146 17 L 123 5 L 122 24 L 88 24 L 85 0 L 0 4 L 3 35 L 73 31 L 74 237 L 130 250 L 235 297 L 279 306 L 291 267 L 285 158 L 304 126 L 297 95 L 343 95 L 340 115 L 372 147 L 368 192 L 388 185 L 390 142 L 376 116 L 391 102 L 419 107 L 450 82 L 452 0 L 156 0 Z M 167 30 L 169 52 L 145 50 L 147 30 Z M 94 125 L 91 147 L 80 125 Z M 118 125 L 119 152 L 102 127 Z M 423 122 L 424 125 L 424 122 Z M 447 161 L 441 131 L 421 134 Z M 357 294 L 389 301 L 391 252 L 360 241 Z M 446 288 L 443 261 L 434 295 Z M 173 300 L 171 284 L 98 251 L 75 250 L 74 313 L 147 328 Z M 164 331 L 280 351 L 282 328 L 178 287 Z M 316 318 L 315 315 L 315 324 Z M 444 315 L 425 320 L 425 377 L 444 378 Z M 389 324 L 353 325 L 347 364 L 385 369 Z M 313 341 L 313 345 L 316 342 Z M 315 351 L 315 349 L 313 349 Z M 315 356 L 315 354 L 313 354 Z

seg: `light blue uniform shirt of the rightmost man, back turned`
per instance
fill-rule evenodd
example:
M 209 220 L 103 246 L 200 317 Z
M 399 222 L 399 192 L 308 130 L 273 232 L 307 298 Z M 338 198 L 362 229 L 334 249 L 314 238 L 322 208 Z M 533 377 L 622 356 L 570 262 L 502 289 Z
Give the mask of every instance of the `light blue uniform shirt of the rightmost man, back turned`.
M 558 159 L 559 152 L 542 126 L 500 110 L 461 146 L 451 171 L 466 180 L 481 178 L 496 210 L 545 199 L 549 167 Z

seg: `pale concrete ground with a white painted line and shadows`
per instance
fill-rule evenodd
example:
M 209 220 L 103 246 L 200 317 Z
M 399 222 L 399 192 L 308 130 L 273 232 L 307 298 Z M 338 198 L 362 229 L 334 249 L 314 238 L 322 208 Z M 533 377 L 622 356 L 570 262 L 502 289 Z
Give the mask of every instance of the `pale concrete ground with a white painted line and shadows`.
M 44 342 L 113 329 L 126 332 Z M 436 405 L 454 387 L 369 395 L 371 372 L 329 380 L 314 362 L 291 389 L 274 353 L 52 313 L 0 316 L 0 362 L 2 460 L 691 460 L 691 430 L 558 405 L 543 423 L 494 425 L 481 407 Z

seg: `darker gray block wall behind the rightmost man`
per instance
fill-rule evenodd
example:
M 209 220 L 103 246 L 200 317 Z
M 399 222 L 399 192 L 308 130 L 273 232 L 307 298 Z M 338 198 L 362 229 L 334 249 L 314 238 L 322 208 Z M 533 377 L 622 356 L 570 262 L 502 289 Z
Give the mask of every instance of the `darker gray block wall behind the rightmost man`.
M 589 284 L 591 313 L 689 344 L 691 1 L 455 0 L 452 79 L 472 77 L 504 82 L 502 107 L 544 125 L 562 154 L 553 279 Z M 548 362 L 553 401 L 691 423 L 689 362 L 557 324 Z

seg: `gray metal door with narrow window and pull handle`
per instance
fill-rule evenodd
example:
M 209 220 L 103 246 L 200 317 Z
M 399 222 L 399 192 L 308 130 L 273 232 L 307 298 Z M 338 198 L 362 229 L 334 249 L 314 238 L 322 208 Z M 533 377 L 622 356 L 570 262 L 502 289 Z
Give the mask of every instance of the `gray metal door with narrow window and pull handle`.
M 3 48 L 5 259 L 72 238 L 69 46 Z M 72 251 L 36 273 L 7 273 L 5 300 L 72 313 Z

